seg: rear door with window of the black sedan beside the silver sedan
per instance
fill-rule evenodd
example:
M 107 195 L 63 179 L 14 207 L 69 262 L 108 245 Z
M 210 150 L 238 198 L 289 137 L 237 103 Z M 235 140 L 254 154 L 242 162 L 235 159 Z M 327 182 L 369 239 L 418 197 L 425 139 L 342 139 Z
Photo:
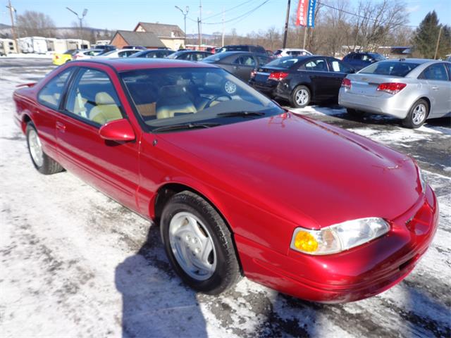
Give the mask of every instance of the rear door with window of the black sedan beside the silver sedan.
M 299 70 L 307 71 L 314 100 L 330 98 L 331 93 L 334 92 L 335 75 L 329 72 L 326 58 L 309 58 L 299 67 Z

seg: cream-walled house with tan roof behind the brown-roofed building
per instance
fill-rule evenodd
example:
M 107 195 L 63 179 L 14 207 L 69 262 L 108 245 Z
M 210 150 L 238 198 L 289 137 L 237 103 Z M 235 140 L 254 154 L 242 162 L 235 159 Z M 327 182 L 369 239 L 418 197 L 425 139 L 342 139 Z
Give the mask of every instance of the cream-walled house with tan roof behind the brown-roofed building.
M 135 32 L 152 32 L 163 44 L 174 51 L 185 46 L 185 33 L 178 25 L 163 23 L 138 23 Z

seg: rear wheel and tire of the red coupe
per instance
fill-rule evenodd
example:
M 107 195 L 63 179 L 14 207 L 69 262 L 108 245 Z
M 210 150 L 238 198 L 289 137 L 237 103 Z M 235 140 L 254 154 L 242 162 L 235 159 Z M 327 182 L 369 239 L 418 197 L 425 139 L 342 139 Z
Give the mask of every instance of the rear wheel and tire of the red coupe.
M 31 161 L 39 173 L 44 175 L 51 175 L 59 173 L 64 170 L 58 162 L 50 158 L 42 150 L 42 144 L 39 139 L 35 125 L 29 122 L 25 130 L 25 135 L 27 137 L 27 148 L 30 154 Z

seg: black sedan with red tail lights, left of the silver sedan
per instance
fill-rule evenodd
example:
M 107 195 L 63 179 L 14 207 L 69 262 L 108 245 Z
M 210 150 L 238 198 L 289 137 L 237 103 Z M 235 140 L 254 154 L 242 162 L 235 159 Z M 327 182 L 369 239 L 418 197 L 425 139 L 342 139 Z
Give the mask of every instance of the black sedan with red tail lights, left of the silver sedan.
M 337 101 L 341 82 L 354 70 L 330 56 L 285 56 L 251 75 L 249 84 L 270 97 L 286 99 L 295 108 L 311 102 Z

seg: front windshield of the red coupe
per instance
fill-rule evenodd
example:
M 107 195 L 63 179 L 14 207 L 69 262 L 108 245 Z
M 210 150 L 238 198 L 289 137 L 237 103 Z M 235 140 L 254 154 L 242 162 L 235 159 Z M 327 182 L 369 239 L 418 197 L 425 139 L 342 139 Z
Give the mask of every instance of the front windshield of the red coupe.
M 121 77 L 149 131 L 185 123 L 222 125 L 284 112 L 221 68 L 140 69 Z M 244 118 L 230 116 L 243 112 Z

